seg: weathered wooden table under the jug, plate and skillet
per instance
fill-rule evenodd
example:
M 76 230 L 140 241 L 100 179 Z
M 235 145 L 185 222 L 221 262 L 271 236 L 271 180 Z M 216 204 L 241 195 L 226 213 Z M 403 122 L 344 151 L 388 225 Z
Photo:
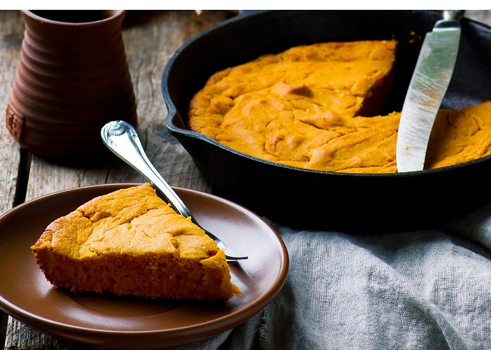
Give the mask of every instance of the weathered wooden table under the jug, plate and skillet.
M 191 10 L 130 11 L 123 22 L 123 40 L 137 97 L 137 131 L 149 158 L 172 186 L 211 190 L 184 148 L 172 141 L 163 126 L 167 111 L 161 94 L 161 73 L 184 41 L 229 15 L 222 10 L 204 11 L 200 16 Z M 466 16 L 491 25 L 490 10 L 469 10 Z M 105 167 L 63 167 L 30 155 L 11 138 L 4 126 L 4 111 L 23 31 L 18 11 L 0 11 L 0 212 L 67 188 L 144 182 L 142 176 L 116 158 Z M 9 350 L 82 348 L 37 332 L 0 311 L 0 343 L 4 339 Z

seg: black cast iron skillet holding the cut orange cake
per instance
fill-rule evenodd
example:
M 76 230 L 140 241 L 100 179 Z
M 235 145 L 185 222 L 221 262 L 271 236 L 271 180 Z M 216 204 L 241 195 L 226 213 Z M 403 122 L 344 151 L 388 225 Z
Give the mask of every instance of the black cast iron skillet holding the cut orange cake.
M 387 232 L 436 225 L 491 200 L 491 158 L 405 174 L 343 174 L 278 165 L 239 153 L 187 123 L 192 96 L 216 71 L 295 45 L 396 38 L 394 85 L 384 111 L 401 111 L 433 11 L 281 10 L 243 13 L 191 38 L 162 76 L 166 127 L 191 154 L 213 193 L 300 228 Z M 443 108 L 491 99 L 491 28 L 462 20 L 456 70 Z

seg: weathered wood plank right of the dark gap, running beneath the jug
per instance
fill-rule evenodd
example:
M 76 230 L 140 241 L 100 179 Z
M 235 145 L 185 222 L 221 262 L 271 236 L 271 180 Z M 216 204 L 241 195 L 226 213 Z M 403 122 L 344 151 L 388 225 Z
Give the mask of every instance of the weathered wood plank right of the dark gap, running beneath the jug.
M 210 186 L 190 156 L 163 126 L 167 110 L 161 94 L 161 74 L 168 59 L 184 41 L 224 20 L 225 16 L 224 11 L 205 11 L 199 18 L 190 10 L 135 11 L 128 13 L 123 24 L 123 40 L 137 97 L 137 131 L 149 158 L 172 186 L 210 192 Z M 33 157 L 26 200 L 79 186 L 143 181 L 140 174 L 116 158 L 105 167 L 76 168 Z M 11 317 L 5 347 L 11 350 L 83 349 L 83 346 L 33 330 Z

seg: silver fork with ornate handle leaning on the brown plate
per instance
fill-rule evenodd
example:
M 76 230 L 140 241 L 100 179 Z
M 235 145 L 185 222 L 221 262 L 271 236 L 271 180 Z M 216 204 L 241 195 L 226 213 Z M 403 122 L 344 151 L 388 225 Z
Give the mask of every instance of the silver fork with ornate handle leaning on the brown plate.
M 100 136 L 105 145 L 119 158 L 128 163 L 137 172 L 140 172 L 149 181 L 151 181 L 156 188 L 158 188 L 163 197 L 172 205 L 173 209 L 182 216 L 188 218 L 191 217 L 191 221 L 198 225 L 201 225 L 196 221 L 191 211 L 187 209 L 186 205 L 174 190 L 168 185 L 163 177 L 157 172 L 152 162 L 148 159 L 145 151 L 143 151 L 142 143 L 138 138 L 135 129 L 123 120 L 116 120 L 107 123 L 102 127 Z M 203 230 L 205 230 L 203 228 Z M 205 230 L 206 235 L 210 236 L 217 246 L 225 251 L 225 257 L 227 260 L 243 260 L 247 259 L 247 256 L 238 255 L 231 248 L 223 243 L 223 241 L 217 236 L 213 235 L 208 230 Z

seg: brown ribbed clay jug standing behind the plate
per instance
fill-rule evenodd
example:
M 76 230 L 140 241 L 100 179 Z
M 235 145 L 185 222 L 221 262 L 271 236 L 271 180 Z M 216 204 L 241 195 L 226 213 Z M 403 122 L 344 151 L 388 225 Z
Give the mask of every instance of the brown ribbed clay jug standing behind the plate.
M 22 10 L 25 36 L 6 125 L 36 155 L 107 153 L 100 129 L 136 126 L 133 85 L 121 36 L 124 10 Z

